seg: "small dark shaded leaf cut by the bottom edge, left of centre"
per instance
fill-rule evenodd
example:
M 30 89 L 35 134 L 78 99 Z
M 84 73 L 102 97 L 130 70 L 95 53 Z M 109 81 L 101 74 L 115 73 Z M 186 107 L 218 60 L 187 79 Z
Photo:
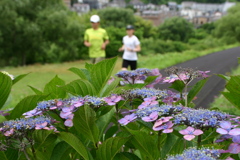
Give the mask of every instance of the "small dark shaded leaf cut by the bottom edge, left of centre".
M 59 142 L 52 151 L 51 160 L 60 160 L 64 158 L 63 156 L 65 156 L 65 152 L 68 151 L 69 148 L 70 145 L 65 141 Z

